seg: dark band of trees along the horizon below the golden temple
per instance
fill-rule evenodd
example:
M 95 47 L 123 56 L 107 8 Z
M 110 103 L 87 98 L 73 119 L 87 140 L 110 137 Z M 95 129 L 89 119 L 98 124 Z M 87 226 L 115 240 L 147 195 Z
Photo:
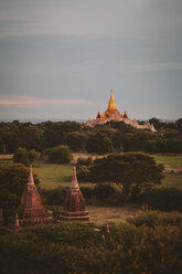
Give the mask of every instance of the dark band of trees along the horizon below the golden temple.
M 157 133 L 141 130 L 124 122 L 110 122 L 94 128 L 76 122 L 41 124 L 0 123 L 0 154 L 13 154 L 19 147 L 40 152 L 67 145 L 73 151 L 107 154 L 110 151 L 182 152 L 182 118 L 175 123 L 153 123 Z

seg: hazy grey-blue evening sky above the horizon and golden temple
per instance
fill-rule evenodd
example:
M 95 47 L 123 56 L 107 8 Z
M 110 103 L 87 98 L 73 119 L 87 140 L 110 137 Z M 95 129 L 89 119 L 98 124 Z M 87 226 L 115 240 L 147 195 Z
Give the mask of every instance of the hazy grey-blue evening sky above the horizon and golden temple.
M 182 117 L 182 0 L 0 0 L 0 119 Z

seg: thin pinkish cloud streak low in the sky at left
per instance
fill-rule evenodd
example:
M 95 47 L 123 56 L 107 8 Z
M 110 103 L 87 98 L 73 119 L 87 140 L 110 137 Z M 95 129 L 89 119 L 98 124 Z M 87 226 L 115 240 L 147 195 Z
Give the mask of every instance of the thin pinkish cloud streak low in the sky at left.
M 94 102 L 87 99 L 47 99 L 47 98 L 36 98 L 29 96 L 9 96 L 0 97 L 0 105 L 85 105 L 94 104 Z

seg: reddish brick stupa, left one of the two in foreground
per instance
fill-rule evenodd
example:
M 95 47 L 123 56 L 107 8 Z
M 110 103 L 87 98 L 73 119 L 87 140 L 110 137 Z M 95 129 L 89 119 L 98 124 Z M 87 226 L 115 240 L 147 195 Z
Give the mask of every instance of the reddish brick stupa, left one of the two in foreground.
M 52 222 L 52 218 L 45 211 L 41 203 L 40 193 L 34 183 L 32 167 L 28 183 L 21 197 L 21 204 L 18 209 L 20 226 L 36 225 L 41 223 Z

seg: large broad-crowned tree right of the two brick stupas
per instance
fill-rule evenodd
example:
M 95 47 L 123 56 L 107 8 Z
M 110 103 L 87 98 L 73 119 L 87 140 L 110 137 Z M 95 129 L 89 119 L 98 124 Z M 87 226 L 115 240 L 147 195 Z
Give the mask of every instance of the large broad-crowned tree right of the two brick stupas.
M 142 152 L 111 154 L 96 159 L 90 166 L 90 178 L 96 182 L 116 182 L 129 196 L 132 187 L 138 191 L 160 183 L 163 166 Z

